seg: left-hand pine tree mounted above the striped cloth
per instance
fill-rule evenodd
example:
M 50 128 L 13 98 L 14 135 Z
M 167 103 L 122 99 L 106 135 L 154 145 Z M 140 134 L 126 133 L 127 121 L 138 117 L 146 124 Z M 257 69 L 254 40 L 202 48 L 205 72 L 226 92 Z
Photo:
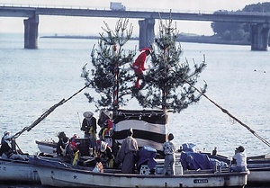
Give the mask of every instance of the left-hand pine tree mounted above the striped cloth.
M 117 110 L 119 106 L 126 105 L 131 97 L 130 86 L 133 85 L 130 74 L 130 62 L 135 56 L 135 50 L 124 50 L 124 45 L 130 40 L 133 27 L 128 19 L 119 19 L 116 22 L 114 31 L 104 22 L 106 33 L 100 33 L 98 47 L 93 47 L 91 52 L 93 68 L 91 72 L 83 67 L 81 76 L 85 78 L 85 85 L 94 88 L 94 94 L 85 93 L 89 103 L 95 103 L 100 107 L 109 110 Z

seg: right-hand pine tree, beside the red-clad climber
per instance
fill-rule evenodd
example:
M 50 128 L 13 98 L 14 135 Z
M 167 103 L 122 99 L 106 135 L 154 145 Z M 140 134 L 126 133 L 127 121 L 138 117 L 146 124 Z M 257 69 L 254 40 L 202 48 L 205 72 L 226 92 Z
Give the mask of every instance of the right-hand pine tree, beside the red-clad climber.
M 196 92 L 194 86 L 206 63 L 193 64 L 185 59 L 180 62 L 183 52 L 180 44 L 176 45 L 176 28 L 172 19 L 159 21 L 159 31 L 151 53 L 154 68 L 146 71 L 143 78 L 144 87 L 133 89 L 132 94 L 144 108 L 160 108 L 164 111 L 181 112 L 189 104 L 198 102 L 206 92 L 207 85 Z

